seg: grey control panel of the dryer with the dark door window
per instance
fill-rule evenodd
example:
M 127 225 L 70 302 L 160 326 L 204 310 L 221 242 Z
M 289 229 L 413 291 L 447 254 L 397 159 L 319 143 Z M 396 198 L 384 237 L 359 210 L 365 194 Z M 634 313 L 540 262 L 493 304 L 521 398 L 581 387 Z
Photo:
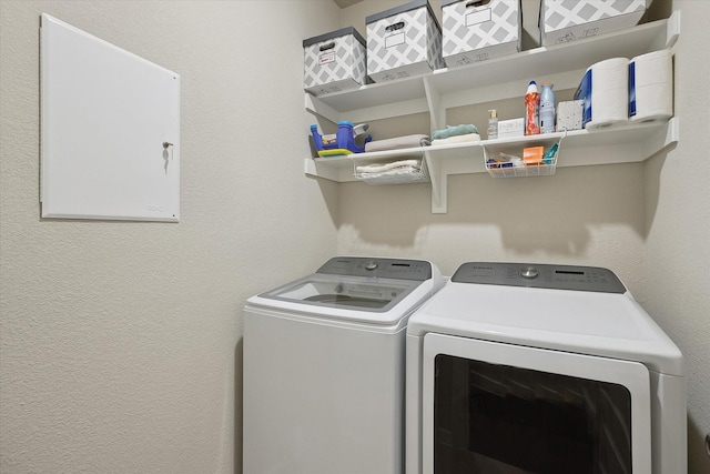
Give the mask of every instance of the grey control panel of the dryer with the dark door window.
M 458 268 L 453 282 L 556 290 L 626 293 L 611 270 L 599 266 L 529 263 L 468 262 Z

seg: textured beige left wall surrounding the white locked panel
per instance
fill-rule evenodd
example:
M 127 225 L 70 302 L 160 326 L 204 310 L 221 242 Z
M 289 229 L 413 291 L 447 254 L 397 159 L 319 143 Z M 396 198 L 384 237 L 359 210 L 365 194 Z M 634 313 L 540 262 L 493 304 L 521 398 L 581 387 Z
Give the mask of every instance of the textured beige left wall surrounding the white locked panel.
M 181 74 L 179 224 L 40 220 L 41 12 Z M 241 306 L 336 249 L 336 186 L 303 174 L 301 42 L 337 16 L 2 0 L 0 472 L 240 470 Z

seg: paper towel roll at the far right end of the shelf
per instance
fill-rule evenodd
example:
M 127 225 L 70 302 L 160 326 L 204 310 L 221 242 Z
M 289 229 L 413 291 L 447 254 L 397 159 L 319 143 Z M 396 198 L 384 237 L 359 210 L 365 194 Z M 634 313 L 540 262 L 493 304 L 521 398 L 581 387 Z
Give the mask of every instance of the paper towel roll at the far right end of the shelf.
M 633 122 L 673 115 L 673 56 L 670 50 L 637 56 L 629 63 L 629 118 Z

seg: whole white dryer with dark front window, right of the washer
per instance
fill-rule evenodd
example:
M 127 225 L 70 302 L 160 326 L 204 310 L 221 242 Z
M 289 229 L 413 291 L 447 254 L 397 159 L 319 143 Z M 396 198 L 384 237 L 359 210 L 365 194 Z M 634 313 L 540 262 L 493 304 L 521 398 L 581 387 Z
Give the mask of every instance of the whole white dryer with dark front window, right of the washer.
M 609 270 L 465 263 L 407 327 L 406 472 L 687 472 L 678 347 Z

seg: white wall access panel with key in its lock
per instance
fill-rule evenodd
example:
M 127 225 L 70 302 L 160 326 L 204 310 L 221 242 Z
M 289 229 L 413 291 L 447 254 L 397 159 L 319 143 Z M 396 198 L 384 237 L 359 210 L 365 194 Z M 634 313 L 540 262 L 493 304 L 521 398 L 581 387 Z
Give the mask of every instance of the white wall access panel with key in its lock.
M 180 75 L 41 18 L 42 218 L 180 220 Z

